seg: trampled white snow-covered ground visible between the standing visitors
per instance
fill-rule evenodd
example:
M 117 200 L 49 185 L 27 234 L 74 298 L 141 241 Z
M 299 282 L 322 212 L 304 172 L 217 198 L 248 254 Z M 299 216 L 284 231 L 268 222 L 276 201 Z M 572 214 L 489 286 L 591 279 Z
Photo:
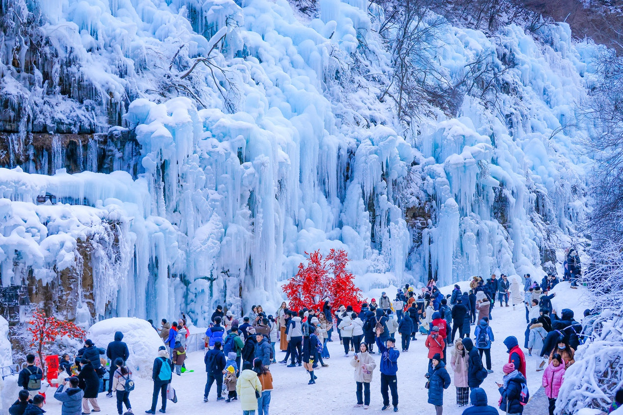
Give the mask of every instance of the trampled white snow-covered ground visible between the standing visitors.
M 465 289 L 461 283 L 462 289 Z M 449 289 L 442 289 L 444 294 L 449 294 Z M 570 308 L 574 310 L 576 319 L 582 315 L 586 305 L 581 304 L 583 290 L 569 289 L 569 283 L 563 282 L 554 290 L 558 295 L 554 298 L 554 309 Z M 499 305 L 499 303 L 498 303 Z M 497 406 L 499 393 L 495 381 L 502 380 L 502 365 L 508 361 L 506 348 L 502 344 L 508 335 L 515 335 L 523 345 L 523 332 L 525 330 L 525 309 L 518 307 L 495 307 L 492 314 L 492 329 L 495 335 L 495 343 L 492 348 L 493 370 L 482 387 L 487 391 L 489 403 Z M 472 326 L 473 334 L 473 326 Z M 337 338 L 335 336 L 335 338 Z M 399 408 L 401 413 L 413 413 L 419 411 L 422 414 L 434 414 L 434 407 L 427 403 L 427 390 L 424 388 L 426 368 L 428 364 L 427 350 L 424 347 L 424 336 L 418 335 L 417 341 L 411 343 L 408 353 L 401 353 L 398 371 L 398 394 Z M 368 411 L 361 408 L 353 408 L 355 400 L 355 385 L 353 369 L 349 358 L 344 357 L 340 342 L 329 343 L 331 358 L 326 361 L 328 368 L 316 371 L 318 380 L 316 385 L 307 385 L 309 377 L 303 368 L 287 368 L 284 365 L 272 365 L 274 390 L 270 403 L 270 411 L 273 414 L 303 414 L 303 413 L 380 413 L 382 399 L 380 393 L 380 377 L 378 367 L 374 372 L 373 384 L 371 385 L 371 406 Z M 277 351 L 277 360 L 283 358 L 285 353 Z M 378 359 L 379 355 L 375 355 Z M 528 357 L 528 386 L 530 391 L 536 393 L 541 385 L 541 373 L 535 372 L 536 358 Z M 210 401 L 203 403 L 203 389 L 206 379 L 203 364 L 203 354 L 199 352 L 189 354 L 186 366 L 194 369 L 193 373 L 184 373 L 181 377 L 174 375 L 173 385 L 178 393 L 178 403 L 169 401 L 167 413 L 170 414 L 194 414 L 197 411 L 206 411 L 209 414 L 239 414 L 240 404 L 216 402 L 216 388 L 212 386 Z M 452 369 L 449 367 L 450 376 Z M 144 413 L 150 408 L 151 391 L 153 383 L 140 378 L 136 379 L 136 389 L 130 394 L 130 401 L 135 414 Z M 49 394 L 50 398 L 51 395 Z M 107 398 L 100 394 L 98 399 L 102 407 L 101 415 L 117 414 L 116 399 Z M 444 414 L 461 414 L 464 408 L 458 408 L 455 404 L 455 388 L 451 385 L 444 394 Z M 160 406 L 158 406 L 160 408 Z M 49 415 L 60 415 L 60 403 L 53 398 L 48 399 L 44 408 Z M 547 411 L 543 408 L 543 414 Z M 502 413 L 500 411 L 500 413 Z M 536 412 L 534 412 L 536 413 Z

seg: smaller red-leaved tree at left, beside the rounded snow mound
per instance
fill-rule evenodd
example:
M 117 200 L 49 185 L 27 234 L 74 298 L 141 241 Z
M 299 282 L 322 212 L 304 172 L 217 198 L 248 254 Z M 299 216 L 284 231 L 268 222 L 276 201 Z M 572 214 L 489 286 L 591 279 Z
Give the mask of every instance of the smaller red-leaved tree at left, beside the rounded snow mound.
M 27 330 L 32 333 L 31 347 L 37 347 L 41 366 L 45 368 L 43 349 L 47 343 L 54 342 L 57 337 L 67 336 L 84 340 L 87 333 L 74 323 L 59 320 L 56 317 L 45 315 L 44 310 L 36 309 L 32 312 L 32 320 L 28 322 Z

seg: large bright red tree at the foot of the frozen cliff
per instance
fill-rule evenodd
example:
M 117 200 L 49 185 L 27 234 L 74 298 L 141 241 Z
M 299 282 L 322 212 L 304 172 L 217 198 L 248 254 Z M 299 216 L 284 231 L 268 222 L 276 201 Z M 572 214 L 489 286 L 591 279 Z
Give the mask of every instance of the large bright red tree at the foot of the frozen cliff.
M 283 286 L 290 309 L 321 308 L 325 299 L 333 310 L 340 304 L 361 308 L 361 290 L 354 285 L 353 274 L 346 270 L 350 261 L 346 251 L 331 249 L 326 257 L 320 250 L 305 254 L 309 256 L 307 264 L 298 264 L 298 273 Z

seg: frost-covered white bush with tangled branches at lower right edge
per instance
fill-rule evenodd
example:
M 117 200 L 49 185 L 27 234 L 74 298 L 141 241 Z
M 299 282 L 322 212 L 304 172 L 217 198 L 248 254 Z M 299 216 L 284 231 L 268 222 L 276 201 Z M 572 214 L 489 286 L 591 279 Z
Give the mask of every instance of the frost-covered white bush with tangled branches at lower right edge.
M 586 342 L 565 373 L 557 414 L 574 414 L 581 408 L 606 411 L 623 387 L 623 243 L 607 243 L 591 254 L 582 280 L 599 314 L 583 322 Z

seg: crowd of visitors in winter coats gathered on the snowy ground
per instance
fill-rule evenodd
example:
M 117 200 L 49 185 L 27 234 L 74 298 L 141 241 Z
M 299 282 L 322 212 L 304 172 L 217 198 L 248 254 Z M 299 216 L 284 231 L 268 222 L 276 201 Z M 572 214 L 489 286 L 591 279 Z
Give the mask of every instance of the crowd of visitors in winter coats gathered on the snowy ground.
M 399 358 L 401 353 L 409 352 L 409 345 L 418 335 L 424 335 L 429 365 L 426 380 L 422 382 L 435 413 L 442 414 L 444 389 L 454 385 L 456 404 L 467 407 L 465 415 L 495 414 L 497 409 L 488 405 L 487 393 L 480 386 L 493 373 L 491 349 L 497 343 L 490 323 L 495 304 L 510 307 L 508 302 L 511 301 L 513 307 L 521 303 L 525 306 L 527 326 L 523 348 L 515 336 L 508 336 L 502 342 L 508 361 L 501 366 L 502 382 L 497 383 L 498 408 L 509 415 L 521 414 L 530 398 L 525 350 L 528 355 L 538 357 L 533 370 L 543 371 L 542 385 L 549 398 L 549 414 L 553 414 L 564 373 L 574 363 L 582 330 L 574 320 L 573 311 L 563 309 L 558 313 L 553 309 L 551 299 L 555 294 L 549 292 L 558 283 L 551 275 L 533 282 L 530 274 L 526 274 L 523 286 L 518 277 L 509 281 L 503 274 L 500 279 L 492 275 L 487 281 L 473 277 L 468 291 L 462 292 L 457 284 L 451 294 L 444 296 L 435 281 L 430 280 L 421 289 L 406 284 L 393 299 L 383 292 L 378 302 L 372 299 L 363 304 L 340 304 L 337 310 L 333 310 L 328 301 L 300 310 L 290 310 L 283 302 L 274 314 L 267 314 L 261 305 L 254 305 L 242 317 L 234 316 L 231 310 L 224 312 L 219 305 L 204 337 L 207 376 L 204 402 L 209 401 L 216 383 L 216 401 L 239 401 L 244 415 L 268 415 L 273 389 L 270 366 L 277 363 L 276 347 L 285 353 L 278 363 L 288 368 L 303 366 L 309 377 L 308 385 L 315 385 L 316 370 L 328 366 L 325 360 L 331 357 L 327 343 L 334 341 L 336 332 L 335 341 L 343 345 L 344 356 L 350 358 L 354 368 L 354 406 L 369 408 L 370 385 L 378 367 L 381 410 L 392 408 L 397 412 Z M 589 314 L 587 310 L 585 316 Z M 154 329 L 163 339 L 163 345 L 153 363 L 153 396 L 151 408 L 145 411 L 148 414 L 156 413 L 159 396 L 160 413 L 166 413 L 168 399 L 176 399 L 171 396 L 171 383 L 174 374 L 181 375 L 185 371 L 189 335 L 184 315 L 172 323 L 163 319 L 161 327 Z M 473 337 L 470 337 L 472 329 Z M 401 337 L 399 341 L 397 335 Z M 374 355 L 378 355 L 378 359 Z M 62 402 L 62 414 L 100 411 L 98 394 L 105 390 L 107 396 L 116 394 L 118 414 L 123 413 L 123 406 L 131 412 L 130 394 L 134 383 L 125 365 L 129 356 L 121 332 L 115 333 L 115 341 L 106 349 L 96 347 L 87 339 L 73 361 L 69 355 L 63 355 L 60 370 L 66 376 L 62 376 L 62 380 L 59 376 L 59 387 L 54 394 L 54 398 Z M 35 365 L 34 355 L 28 355 L 27 363 L 19 374 L 19 386 L 24 390 L 11 406 L 11 415 L 43 413 L 43 401 L 38 394 L 43 372 Z M 107 364 L 110 364 L 108 370 Z

